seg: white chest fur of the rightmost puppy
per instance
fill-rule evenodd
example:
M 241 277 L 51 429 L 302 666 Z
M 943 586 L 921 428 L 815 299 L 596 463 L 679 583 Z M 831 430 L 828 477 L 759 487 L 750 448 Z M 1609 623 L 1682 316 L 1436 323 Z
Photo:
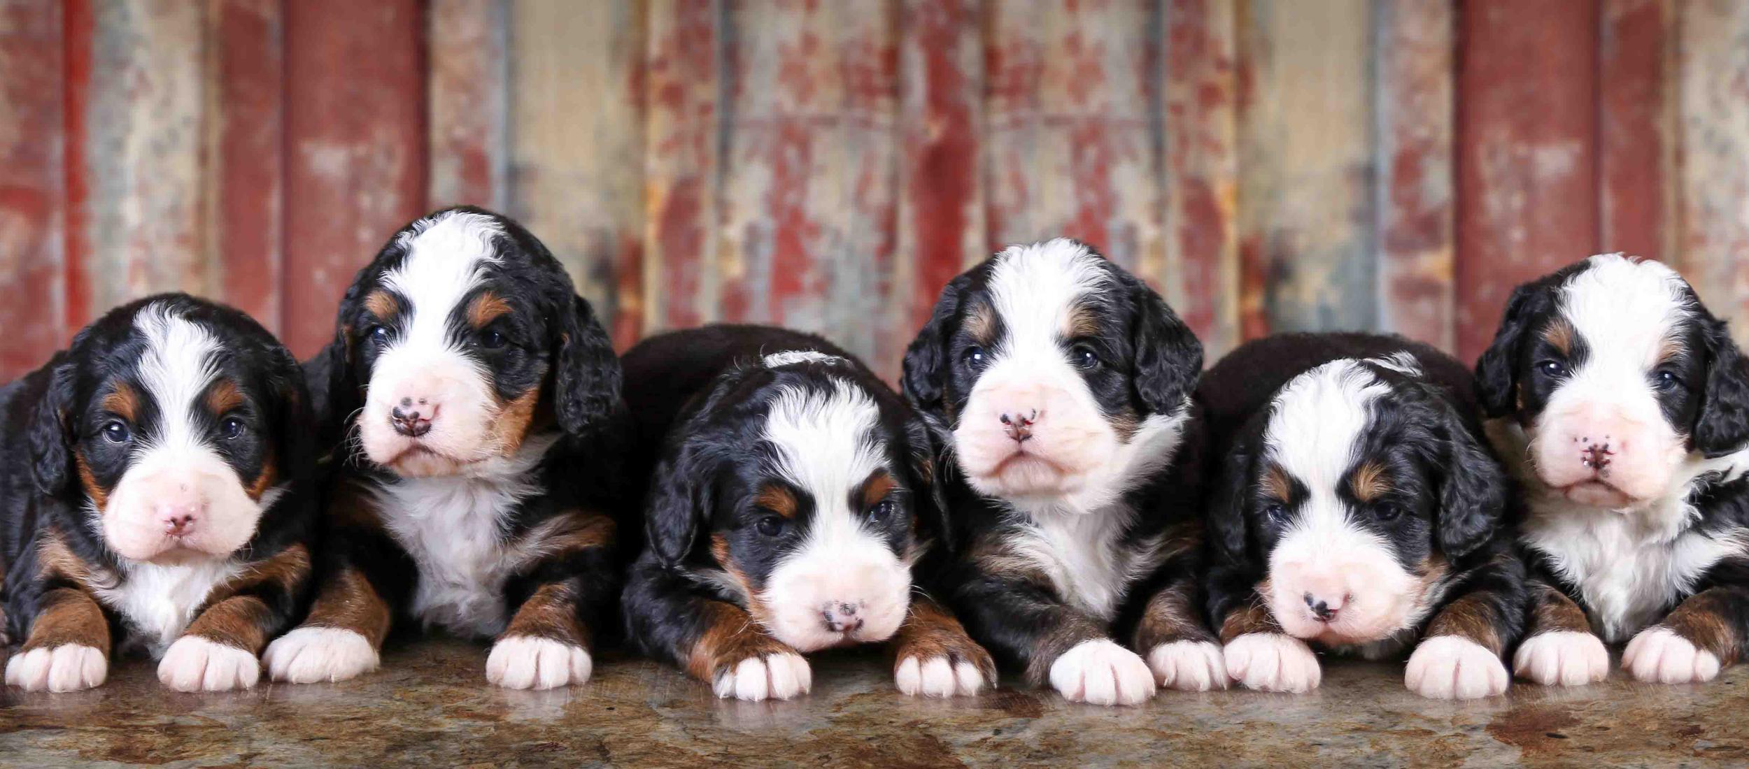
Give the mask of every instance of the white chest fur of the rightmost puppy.
M 1625 641 L 1658 622 L 1702 573 L 1746 545 L 1740 533 L 1670 535 L 1648 530 L 1635 514 L 1578 507 L 1539 509 L 1525 524 L 1525 542 L 1579 587 L 1592 627 L 1606 641 Z

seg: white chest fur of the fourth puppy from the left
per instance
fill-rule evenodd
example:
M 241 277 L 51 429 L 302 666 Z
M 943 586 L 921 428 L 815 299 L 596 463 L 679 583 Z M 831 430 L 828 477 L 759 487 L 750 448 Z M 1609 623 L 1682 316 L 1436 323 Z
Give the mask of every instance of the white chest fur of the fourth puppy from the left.
M 1133 516 L 1123 503 L 1023 514 L 1014 552 L 1042 570 L 1072 606 L 1111 622 L 1130 584 L 1160 563 L 1158 540 L 1119 547 Z

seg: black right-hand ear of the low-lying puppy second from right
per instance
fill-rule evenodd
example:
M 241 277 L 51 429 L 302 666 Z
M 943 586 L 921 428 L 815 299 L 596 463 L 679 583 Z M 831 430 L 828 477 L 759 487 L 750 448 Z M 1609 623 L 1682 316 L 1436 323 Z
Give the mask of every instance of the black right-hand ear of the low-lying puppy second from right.
M 1457 409 L 1443 398 L 1436 398 L 1434 409 L 1445 449 L 1431 458 L 1439 477 L 1439 549 L 1446 558 L 1462 558 L 1501 526 L 1509 479 Z

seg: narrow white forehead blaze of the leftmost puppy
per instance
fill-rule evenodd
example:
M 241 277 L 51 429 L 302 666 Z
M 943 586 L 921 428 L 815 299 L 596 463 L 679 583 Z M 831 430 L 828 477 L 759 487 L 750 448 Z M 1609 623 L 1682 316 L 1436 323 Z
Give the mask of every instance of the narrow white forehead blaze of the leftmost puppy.
M 140 383 L 163 414 L 157 432 L 143 437 L 142 451 L 201 447 L 196 411 L 201 395 L 219 376 L 213 365 L 219 339 L 187 318 L 171 315 L 163 302 L 140 311 L 133 327 L 145 337 Z

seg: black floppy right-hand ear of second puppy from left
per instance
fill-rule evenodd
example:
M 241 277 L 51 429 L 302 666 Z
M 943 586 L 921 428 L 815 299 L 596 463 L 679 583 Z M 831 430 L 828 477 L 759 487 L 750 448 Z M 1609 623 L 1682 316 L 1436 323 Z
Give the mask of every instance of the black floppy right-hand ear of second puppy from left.
M 558 329 L 554 412 L 567 433 L 582 435 L 624 411 L 619 357 L 589 302 L 575 294 L 570 295 L 570 308 Z

